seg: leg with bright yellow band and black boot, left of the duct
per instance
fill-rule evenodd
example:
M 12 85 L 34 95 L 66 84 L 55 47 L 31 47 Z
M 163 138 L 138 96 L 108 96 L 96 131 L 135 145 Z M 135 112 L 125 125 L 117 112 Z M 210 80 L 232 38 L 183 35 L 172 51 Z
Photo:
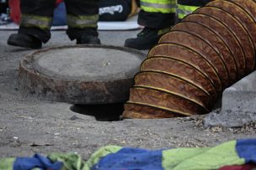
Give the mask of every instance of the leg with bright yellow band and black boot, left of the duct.
M 125 47 L 151 49 L 175 23 L 176 0 L 141 0 L 138 23 L 145 28 L 136 39 L 126 39 Z

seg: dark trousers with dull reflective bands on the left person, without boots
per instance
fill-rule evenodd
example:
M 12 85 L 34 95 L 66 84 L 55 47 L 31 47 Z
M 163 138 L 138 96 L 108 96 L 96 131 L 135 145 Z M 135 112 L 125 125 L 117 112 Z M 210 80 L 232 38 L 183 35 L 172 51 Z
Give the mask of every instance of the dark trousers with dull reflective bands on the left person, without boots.
M 46 43 L 51 38 L 55 4 L 55 0 L 21 0 L 19 33 L 33 35 Z M 77 39 L 83 34 L 98 36 L 99 0 L 65 0 L 65 4 L 70 39 Z

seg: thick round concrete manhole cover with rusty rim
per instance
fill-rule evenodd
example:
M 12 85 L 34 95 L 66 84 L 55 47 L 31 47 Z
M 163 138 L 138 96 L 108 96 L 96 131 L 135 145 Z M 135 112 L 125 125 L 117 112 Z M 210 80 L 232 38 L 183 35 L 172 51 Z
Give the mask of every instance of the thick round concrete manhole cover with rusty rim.
M 144 56 L 104 45 L 41 49 L 20 62 L 20 90 L 73 104 L 124 102 Z

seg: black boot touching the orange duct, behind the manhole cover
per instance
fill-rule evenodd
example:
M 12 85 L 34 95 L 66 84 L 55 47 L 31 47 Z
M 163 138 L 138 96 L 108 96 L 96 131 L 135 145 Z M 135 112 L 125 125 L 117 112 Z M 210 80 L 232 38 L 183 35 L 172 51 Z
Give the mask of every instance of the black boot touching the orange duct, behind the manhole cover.
M 170 28 L 157 29 L 145 27 L 137 34 L 136 38 L 126 39 L 124 46 L 139 50 L 151 49 L 155 44 L 157 44 L 163 33 L 167 33 L 169 30 Z

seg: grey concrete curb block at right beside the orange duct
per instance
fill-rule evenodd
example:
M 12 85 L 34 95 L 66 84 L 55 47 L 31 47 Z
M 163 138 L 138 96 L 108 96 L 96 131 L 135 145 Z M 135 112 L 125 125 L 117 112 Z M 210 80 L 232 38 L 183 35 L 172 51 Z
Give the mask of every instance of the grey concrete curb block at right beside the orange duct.
M 212 111 L 204 125 L 239 127 L 256 121 L 256 71 L 224 90 L 221 111 Z

